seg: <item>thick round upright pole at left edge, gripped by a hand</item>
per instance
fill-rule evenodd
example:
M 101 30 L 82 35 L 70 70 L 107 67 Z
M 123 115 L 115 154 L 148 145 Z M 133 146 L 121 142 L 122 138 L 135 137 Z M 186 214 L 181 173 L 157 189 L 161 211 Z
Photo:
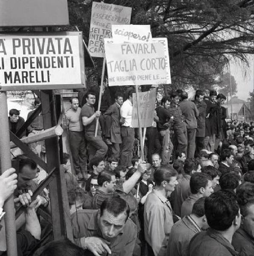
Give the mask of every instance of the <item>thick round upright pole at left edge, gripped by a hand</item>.
M 11 163 L 11 149 L 10 149 L 10 134 L 9 134 L 9 122 L 8 122 L 8 110 L 7 110 L 7 95 L 6 92 L 0 92 L 0 162 L 1 171 L 5 172 L 12 167 Z M 1 188 L 4 189 L 4 188 Z M 15 209 L 14 199 L 11 195 L 4 204 L 4 211 L 6 212 L 5 230 L 6 230 L 6 248 L 8 256 L 17 256 L 17 238 L 15 227 Z

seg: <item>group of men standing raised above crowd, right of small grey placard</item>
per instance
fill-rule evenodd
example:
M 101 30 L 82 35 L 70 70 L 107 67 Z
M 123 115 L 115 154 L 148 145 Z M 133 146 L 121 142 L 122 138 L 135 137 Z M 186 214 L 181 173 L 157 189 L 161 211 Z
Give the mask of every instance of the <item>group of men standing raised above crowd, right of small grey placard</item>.
M 159 122 L 157 125 L 162 141 L 162 163 L 170 163 L 173 145 L 177 151 L 185 152 L 193 158 L 206 148 L 214 151 L 225 137 L 226 111 L 222 107 L 225 96 L 211 90 L 204 100 L 202 90 L 196 90 L 193 101 L 188 100 L 188 93 L 171 93 L 164 96 L 161 106 L 156 108 Z M 170 127 L 172 129 L 170 129 Z M 170 140 L 173 131 L 175 141 Z

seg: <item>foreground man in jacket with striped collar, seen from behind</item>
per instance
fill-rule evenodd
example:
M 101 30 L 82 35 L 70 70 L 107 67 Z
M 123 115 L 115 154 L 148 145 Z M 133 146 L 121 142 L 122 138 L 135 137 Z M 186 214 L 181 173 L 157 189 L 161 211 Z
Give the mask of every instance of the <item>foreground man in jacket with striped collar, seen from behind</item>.
M 192 237 L 208 229 L 205 217 L 205 198 L 199 198 L 193 205 L 190 215 L 177 221 L 170 232 L 167 256 L 188 256 L 188 246 Z

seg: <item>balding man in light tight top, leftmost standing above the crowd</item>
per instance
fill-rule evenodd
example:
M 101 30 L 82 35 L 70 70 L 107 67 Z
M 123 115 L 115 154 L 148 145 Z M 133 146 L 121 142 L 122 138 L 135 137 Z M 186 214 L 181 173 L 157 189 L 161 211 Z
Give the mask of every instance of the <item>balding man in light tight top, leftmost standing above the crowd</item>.
M 69 135 L 69 146 L 72 152 L 72 160 L 75 173 L 79 180 L 83 179 L 86 171 L 87 148 L 85 134 L 81 118 L 81 108 L 78 107 L 78 99 L 70 99 L 71 107 L 66 111 L 66 122 Z

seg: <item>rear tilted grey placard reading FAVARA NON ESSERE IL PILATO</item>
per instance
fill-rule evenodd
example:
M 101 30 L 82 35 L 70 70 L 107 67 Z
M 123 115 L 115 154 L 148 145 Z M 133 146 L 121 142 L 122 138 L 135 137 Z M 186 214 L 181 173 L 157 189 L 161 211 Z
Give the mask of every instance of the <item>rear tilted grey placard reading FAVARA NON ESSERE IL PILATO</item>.
M 104 57 L 104 38 L 112 37 L 112 24 L 130 24 L 131 8 L 92 2 L 88 50 L 92 57 Z

